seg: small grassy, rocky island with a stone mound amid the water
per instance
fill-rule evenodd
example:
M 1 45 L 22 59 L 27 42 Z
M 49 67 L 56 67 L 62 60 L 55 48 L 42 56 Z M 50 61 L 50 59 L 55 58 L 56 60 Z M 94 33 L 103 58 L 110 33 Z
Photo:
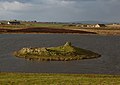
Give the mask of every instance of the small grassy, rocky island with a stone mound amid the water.
M 95 52 L 72 46 L 66 42 L 63 46 L 48 48 L 22 48 L 15 51 L 16 57 L 38 61 L 71 61 L 98 58 L 101 55 Z

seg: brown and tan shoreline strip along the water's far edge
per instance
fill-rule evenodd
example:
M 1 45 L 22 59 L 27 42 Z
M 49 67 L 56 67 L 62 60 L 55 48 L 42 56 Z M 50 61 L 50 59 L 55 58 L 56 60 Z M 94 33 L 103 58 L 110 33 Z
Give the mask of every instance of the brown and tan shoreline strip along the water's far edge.
M 120 36 L 120 30 L 114 29 L 63 29 L 35 27 L 23 29 L 0 29 L 0 34 L 81 34 L 81 35 L 113 35 Z

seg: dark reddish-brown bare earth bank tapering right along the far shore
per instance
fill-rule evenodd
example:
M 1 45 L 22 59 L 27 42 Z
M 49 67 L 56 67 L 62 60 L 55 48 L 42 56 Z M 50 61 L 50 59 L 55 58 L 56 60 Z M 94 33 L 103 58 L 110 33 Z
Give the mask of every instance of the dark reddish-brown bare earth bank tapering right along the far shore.
M 96 34 L 95 32 L 87 32 L 81 30 L 56 29 L 47 27 L 24 28 L 24 29 L 0 29 L 0 33 L 80 33 L 80 34 Z

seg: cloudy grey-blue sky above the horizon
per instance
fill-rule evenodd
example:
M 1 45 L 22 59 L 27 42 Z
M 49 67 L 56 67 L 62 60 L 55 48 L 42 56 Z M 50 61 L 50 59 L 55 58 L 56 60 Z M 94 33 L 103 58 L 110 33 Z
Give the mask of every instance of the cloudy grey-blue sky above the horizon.
M 120 0 L 0 0 L 0 20 L 120 22 Z

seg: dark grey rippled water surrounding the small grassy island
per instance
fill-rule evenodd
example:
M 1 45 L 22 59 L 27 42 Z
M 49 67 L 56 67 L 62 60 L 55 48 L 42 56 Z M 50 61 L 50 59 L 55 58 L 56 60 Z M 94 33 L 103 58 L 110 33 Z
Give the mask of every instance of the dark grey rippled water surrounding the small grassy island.
M 27 61 L 12 55 L 23 47 L 73 45 L 101 54 L 79 61 Z M 120 74 L 120 37 L 79 34 L 0 34 L 0 72 Z

